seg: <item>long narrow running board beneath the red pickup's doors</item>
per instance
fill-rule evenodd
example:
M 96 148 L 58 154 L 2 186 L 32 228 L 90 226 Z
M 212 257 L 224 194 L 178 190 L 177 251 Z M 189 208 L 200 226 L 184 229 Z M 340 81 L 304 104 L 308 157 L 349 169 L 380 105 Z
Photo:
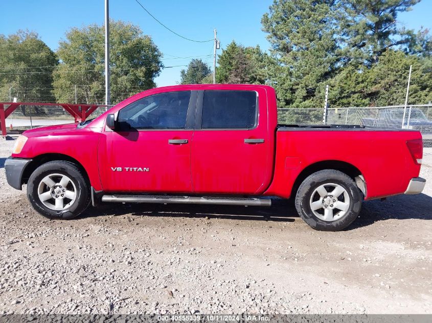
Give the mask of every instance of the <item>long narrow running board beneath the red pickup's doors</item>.
M 168 195 L 103 195 L 102 202 L 125 203 L 179 203 L 271 206 L 271 200 L 256 197 L 214 197 L 214 196 L 168 196 Z

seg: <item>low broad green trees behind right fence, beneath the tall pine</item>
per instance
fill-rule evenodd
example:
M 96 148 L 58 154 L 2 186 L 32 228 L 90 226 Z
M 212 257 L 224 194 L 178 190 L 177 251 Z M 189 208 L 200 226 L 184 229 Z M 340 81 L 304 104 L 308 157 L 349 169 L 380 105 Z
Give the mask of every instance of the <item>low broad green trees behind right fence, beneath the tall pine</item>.
M 427 104 L 432 101 L 432 59 L 389 49 L 372 68 L 348 66 L 331 80 L 332 106 L 404 104 L 410 65 L 413 68 L 408 104 Z

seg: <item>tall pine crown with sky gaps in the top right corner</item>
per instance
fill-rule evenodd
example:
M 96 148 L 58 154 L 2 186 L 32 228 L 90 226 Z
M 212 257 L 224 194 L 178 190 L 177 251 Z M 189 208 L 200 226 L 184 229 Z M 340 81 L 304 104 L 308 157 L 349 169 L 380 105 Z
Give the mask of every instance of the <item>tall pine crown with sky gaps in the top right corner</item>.
M 352 57 L 365 59 L 370 67 L 389 49 L 409 54 L 432 53 L 427 29 L 400 27 L 397 15 L 409 11 L 420 0 L 347 0 L 343 2 L 346 48 Z

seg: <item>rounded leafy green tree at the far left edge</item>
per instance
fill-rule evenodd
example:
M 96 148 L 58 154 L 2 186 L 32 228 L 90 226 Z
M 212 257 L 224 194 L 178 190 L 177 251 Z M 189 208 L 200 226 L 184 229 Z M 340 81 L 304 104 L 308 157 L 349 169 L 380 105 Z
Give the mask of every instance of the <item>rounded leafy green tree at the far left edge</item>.
M 58 64 L 53 51 L 34 32 L 0 34 L 0 101 L 54 102 L 52 72 Z

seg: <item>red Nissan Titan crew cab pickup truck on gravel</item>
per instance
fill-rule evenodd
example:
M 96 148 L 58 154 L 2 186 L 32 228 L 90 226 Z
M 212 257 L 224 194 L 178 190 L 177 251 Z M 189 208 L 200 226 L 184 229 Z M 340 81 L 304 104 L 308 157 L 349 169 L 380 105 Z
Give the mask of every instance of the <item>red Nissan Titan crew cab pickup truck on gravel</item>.
M 270 206 L 294 198 L 316 230 L 361 202 L 416 194 L 419 131 L 278 125 L 264 85 L 179 85 L 133 95 L 81 123 L 28 130 L 5 163 L 36 211 L 71 219 L 99 202 Z

